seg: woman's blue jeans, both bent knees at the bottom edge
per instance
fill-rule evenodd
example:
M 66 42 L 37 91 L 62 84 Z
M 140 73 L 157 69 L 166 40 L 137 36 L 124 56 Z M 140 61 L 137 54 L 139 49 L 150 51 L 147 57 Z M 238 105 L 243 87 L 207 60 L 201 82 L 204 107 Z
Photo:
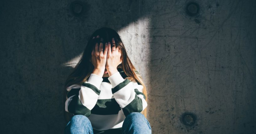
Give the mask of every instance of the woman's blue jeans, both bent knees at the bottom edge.
M 110 129 L 109 129 L 110 130 Z M 142 113 L 132 112 L 125 117 L 122 130 L 119 132 L 103 131 L 99 134 L 151 134 L 148 120 Z M 84 115 L 75 115 L 65 127 L 65 134 L 97 134 L 90 120 Z

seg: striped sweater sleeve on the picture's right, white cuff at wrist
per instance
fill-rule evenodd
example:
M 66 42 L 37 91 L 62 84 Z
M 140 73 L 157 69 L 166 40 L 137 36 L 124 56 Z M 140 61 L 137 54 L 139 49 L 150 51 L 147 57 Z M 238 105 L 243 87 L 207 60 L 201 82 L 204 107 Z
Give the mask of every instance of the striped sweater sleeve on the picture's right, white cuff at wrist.
M 141 112 L 147 107 L 143 86 L 139 85 L 132 77 L 123 77 L 119 72 L 108 77 L 112 85 L 112 94 L 122 108 L 125 116 L 132 112 Z

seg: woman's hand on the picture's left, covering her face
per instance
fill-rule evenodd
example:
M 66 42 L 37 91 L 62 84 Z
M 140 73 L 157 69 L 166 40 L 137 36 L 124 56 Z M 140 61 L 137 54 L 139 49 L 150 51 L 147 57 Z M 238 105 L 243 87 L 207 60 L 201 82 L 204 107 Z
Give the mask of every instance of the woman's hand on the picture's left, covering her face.
M 95 37 L 93 37 L 92 39 L 94 39 Z M 99 36 L 97 36 L 96 38 L 99 38 Z M 101 38 L 101 43 L 100 46 L 98 45 L 98 43 L 95 44 L 94 49 L 91 52 L 91 63 L 94 66 L 94 70 L 93 70 L 93 74 L 96 74 L 98 76 L 103 76 L 104 74 L 104 70 L 105 70 L 105 66 L 106 66 L 106 61 L 107 61 L 107 43 L 105 44 L 105 50 L 103 51 L 99 51 L 99 50 L 103 50 L 103 39 Z

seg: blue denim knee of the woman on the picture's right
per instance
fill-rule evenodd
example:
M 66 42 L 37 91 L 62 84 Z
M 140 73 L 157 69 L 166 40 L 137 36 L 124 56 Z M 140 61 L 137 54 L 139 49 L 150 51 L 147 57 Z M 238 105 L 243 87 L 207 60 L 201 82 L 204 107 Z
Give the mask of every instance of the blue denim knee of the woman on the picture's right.
M 149 121 L 140 112 L 132 112 L 125 117 L 122 134 L 151 134 Z

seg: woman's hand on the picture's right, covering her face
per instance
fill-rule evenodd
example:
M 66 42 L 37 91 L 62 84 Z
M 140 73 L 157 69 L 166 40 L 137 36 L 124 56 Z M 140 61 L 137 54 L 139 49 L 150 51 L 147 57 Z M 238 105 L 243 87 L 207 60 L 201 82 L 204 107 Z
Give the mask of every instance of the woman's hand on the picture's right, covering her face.
M 107 43 L 106 43 L 107 44 Z M 111 52 L 111 44 L 108 42 L 108 50 L 107 50 L 107 62 L 106 62 L 106 69 L 108 75 L 111 76 L 115 72 L 118 72 L 117 67 L 119 64 L 122 63 L 121 52 L 119 48 L 116 48 L 115 39 L 112 38 L 112 52 Z

